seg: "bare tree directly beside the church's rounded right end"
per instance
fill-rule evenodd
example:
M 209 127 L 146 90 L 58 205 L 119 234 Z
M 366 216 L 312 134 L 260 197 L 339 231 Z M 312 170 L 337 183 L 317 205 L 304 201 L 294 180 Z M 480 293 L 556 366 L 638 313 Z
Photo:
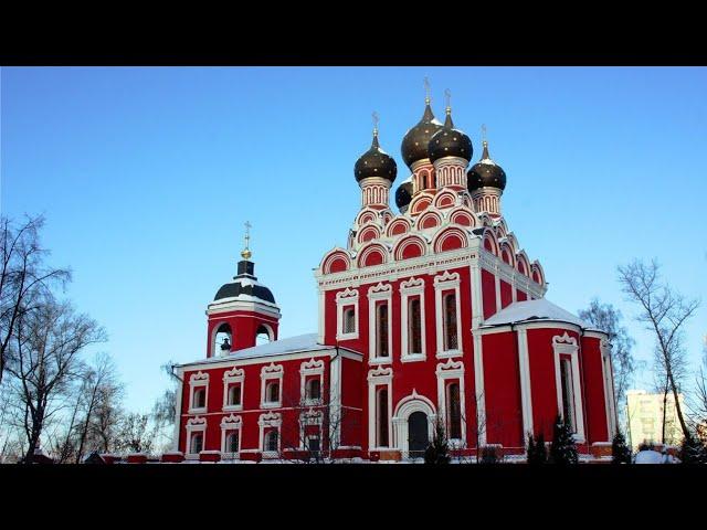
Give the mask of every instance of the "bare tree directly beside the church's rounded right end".
M 626 398 L 626 390 L 637 365 L 631 353 L 635 341 L 621 325 L 622 315 L 611 304 L 600 304 L 594 298 L 587 309 L 579 311 L 579 318 L 601 329 L 608 335 L 611 349 L 611 364 L 613 367 L 616 403 L 622 409 Z

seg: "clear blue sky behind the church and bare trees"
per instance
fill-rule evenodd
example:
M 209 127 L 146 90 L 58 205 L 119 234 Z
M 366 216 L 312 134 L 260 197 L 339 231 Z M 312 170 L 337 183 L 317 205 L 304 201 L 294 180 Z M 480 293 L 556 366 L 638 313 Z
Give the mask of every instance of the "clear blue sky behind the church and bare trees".
M 235 271 L 243 222 L 281 337 L 317 329 L 313 268 L 345 245 L 352 174 L 370 146 L 409 173 L 400 141 L 452 91 L 454 121 L 506 170 L 503 210 L 547 297 L 576 312 L 598 296 L 631 321 L 616 265 L 656 257 L 703 306 L 707 332 L 707 70 L 624 67 L 2 68 L 2 213 L 46 215 L 68 296 L 109 333 L 127 405 L 148 410 L 168 359 L 204 357 L 207 304 Z M 643 379 L 648 379 L 644 373 Z M 639 384 L 641 378 L 639 379 Z M 639 385 L 637 384 L 637 385 Z

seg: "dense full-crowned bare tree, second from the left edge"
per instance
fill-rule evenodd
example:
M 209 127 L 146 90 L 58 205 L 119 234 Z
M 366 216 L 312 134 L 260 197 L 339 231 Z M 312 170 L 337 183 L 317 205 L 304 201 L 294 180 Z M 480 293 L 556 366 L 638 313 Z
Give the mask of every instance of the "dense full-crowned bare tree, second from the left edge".
M 32 311 L 20 311 L 12 362 L 17 405 L 31 463 L 49 421 L 65 406 L 73 383 L 80 378 L 80 353 L 88 344 L 105 340 L 105 331 L 86 315 L 77 315 L 68 303 L 42 296 Z

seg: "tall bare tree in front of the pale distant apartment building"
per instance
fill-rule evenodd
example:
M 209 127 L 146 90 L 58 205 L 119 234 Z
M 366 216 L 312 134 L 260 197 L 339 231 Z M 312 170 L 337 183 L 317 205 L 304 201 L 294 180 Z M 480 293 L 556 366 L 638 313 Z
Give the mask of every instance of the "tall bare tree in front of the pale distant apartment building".
M 620 266 L 619 282 L 629 299 L 639 305 L 639 321 L 644 322 L 655 337 L 666 380 L 675 399 L 677 418 L 683 434 L 688 438 L 690 433 L 678 400 L 680 374 L 676 370 L 685 358 L 679 340 L 683 325 L 695 314 L 699 300 L 685 299 L 662 283 L 659 266 L 655 259 L 647 265 L 636 259 L 626 266 Z

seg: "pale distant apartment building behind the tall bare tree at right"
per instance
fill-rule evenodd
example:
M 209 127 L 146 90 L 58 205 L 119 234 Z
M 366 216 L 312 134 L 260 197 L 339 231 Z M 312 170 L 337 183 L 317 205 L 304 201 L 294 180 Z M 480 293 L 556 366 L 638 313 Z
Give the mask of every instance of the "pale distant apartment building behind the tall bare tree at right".
M 683 394 L 677 394 L 680 409 L 685 410 Z M 680 423 L 677 418 L 675 398 L 668 392 L 667 398 L 658 392 L 651 394 L 645 390 L 626 392 L 626 416 L 629 420 L 629 437 L 635 451 L 642 443 L 663 443 L 663 404 L 665 402 L 665 443 L 679 444 L 683 439 Z

